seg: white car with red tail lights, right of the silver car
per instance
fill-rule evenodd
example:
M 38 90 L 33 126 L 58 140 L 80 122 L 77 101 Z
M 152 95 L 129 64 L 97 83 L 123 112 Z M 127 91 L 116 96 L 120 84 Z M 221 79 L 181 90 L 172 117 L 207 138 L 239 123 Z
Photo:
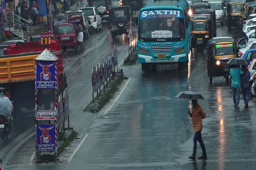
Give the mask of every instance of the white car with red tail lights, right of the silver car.
M 90 19 L 92 26 L 95 28 L 96 32 L 98 32 L 99 30 L 102 30 L 101 17 L 97 8 L 86 7 L 86 8 L 80 8 L 79 10 L 86 13 L 87 17 Z

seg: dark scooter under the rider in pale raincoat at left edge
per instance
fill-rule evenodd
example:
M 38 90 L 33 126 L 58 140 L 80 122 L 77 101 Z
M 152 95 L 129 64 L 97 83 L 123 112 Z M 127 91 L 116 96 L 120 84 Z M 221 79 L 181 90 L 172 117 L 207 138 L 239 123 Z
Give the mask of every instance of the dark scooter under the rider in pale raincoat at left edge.
M 10 120 L 8 120 L 5 115 L 0 114 L 0 137 L 2 138 L 2 140 L 8 139 L 8 135 L 11 133 L 11 125 L 12 116 Z

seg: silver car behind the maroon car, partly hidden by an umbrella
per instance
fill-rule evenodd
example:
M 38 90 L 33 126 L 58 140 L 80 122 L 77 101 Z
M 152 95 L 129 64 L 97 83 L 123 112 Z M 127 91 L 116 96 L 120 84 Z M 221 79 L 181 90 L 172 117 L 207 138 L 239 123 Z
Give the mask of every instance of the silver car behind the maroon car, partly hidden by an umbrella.
M 83 26 L 84 29 L 84 39 L 88 39 L 89 38 L 89 23 L 88 23 L 88 19 L 86 16 L 86 13 L 84 13 L 81 10 L 74 10 L 74 11 L 67 11 L 66 12 L 67 15 L 67 23 L 68 23 L 68 18 L 71 17 L 72 15 L 81 15 L 81 21 L 80 24 L 81 26 Z

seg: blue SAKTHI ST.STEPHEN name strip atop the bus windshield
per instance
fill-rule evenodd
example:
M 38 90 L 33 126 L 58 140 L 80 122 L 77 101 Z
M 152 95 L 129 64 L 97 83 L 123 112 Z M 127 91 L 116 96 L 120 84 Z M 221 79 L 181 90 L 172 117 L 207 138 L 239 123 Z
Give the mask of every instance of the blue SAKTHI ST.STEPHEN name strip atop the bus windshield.
M 142 11 L 140 19 L 146 18 L 183 18 L 180 10 L 148 10 Z

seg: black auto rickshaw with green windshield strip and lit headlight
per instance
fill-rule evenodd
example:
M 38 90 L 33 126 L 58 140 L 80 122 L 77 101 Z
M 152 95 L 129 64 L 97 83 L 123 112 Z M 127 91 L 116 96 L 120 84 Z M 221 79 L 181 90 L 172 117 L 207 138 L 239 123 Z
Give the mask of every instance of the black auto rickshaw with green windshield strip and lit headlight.
M 231 37 L 215 37 L 207 43 L 207 71 L 210 82 L 212 77 L 223 76 L 229 82 L 230 67 L 227 62 L 237 57 L 235 40 Z

